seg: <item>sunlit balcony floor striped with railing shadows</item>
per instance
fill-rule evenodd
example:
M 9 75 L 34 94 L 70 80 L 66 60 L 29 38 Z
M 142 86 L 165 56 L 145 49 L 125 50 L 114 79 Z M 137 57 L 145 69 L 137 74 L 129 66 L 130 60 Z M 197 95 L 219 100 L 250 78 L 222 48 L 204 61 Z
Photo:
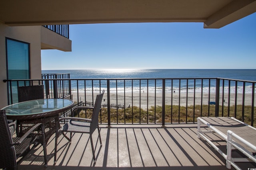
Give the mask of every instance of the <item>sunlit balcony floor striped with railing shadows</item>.
M 38 145 L 20 161 L 19 170 L 227 170 L 225 160 L 206 141 L 198 139 L 196 124 L 100 125 L 102 147 L 97 131 L 93 134 L 96 164 L 88 134 L 73 134 L 72 143 L 58 138 L 57 163 L 54 160 L 54 135 L 48 142 L 48 168 L 44 168 L 42 146 Z M 210 135 L 210 134 L 209 134 Z M 211 134 L 220 149 L 226 142 Z M 238 154 L 234 152 L 232 154 Z M 242 169 L 256 164 L 239 163 Z M 232 167 L 232 169 L 234 169 Z

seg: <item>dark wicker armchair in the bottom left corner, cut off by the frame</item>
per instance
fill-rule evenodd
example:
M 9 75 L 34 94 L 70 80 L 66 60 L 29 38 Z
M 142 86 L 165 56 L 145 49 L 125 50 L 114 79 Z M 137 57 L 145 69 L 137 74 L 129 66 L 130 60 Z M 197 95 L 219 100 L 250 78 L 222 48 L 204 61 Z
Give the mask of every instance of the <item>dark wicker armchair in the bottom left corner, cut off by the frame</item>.
M 41 123 L 37 123 L 33 127 L 30 127 L 29 131 L 22 137 L 15 137 L 16 135 L 13 137 L 16 121 L 8 124 L 5 110 L 0 110 L 0 168 L 6 168 L 6 170 L 17 169 L 17 158 L 24 156 L 24 153 L 34 144 L 38 136 L 41 135 L 37 131 L 40 125 Z M 45 152 L 44 156 L 46 158 Z M 47 166 L 46 159 L 45 165 Z

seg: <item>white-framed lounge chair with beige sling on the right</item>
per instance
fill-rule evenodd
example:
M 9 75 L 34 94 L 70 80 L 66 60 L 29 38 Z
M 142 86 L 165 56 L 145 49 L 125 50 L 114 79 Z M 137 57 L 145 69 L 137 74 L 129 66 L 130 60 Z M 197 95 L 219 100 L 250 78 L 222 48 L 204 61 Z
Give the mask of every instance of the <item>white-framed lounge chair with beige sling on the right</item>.
M 205 139 L 216 151 L 218 151 L 226 159 L 226 167 L 231 165 L 240 170 L 241 168 L 235 162 L 256 162 L 256 128 L 235 119 L 234 117 L 198 117 L 198 138 Z M 210 130 L 201 125 L 207 125 Z M 206 133 L 217 133 L 227 142 L 227 152 L 220 150 L 210 139 Z M 240 150 L 247 158 L 232 157 L 232 149 Z

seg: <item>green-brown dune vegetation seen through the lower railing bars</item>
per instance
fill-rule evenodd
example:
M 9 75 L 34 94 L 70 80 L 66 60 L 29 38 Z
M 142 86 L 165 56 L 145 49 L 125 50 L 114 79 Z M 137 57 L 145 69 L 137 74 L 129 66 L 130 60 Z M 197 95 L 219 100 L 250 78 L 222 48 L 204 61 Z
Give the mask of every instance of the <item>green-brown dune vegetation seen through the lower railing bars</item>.
M 201 111 L 202 109 L 202 111 Z M 223 110 L 223 114 L 222 114 Z M 235 106 L 230 106 L 228 115 L 228 107 L 220 106 L 219 116 L 230 116 L 236 117 L 242 120 L 242 105 L 236 106 L 236 116 L 235 116 Z M 254 115 L 256 113 L 256 107 L 254 107 Z M 78 114 L 78 113 L 76 113 Z M 90 118 L 92 115 L 92 110 L 87 109 L 81 110 L 79 117 Z M 252 107 L 244 106 L 244 122 L 251 125 Z M 200 116 L 215 116 L 215 105 L 201 105 L 194 106 L 177 106 L 170 105 L 165 106 L 165 123 L 196 123 L 196 118 Z M 256 116 L 254 116 L 256 117 Z M 126 109 L 110 109 L 110 122 L 111 124 L 123 124 L 123 123 L 134 123 L 134 124 L 145 124 L 145 123 L 162 123 L 162 107 L 151 106 L 148 109 L 140 109 L 139 107 L 129 107 Z M 99 123 L 108 123 L 108 113 L 107 108 L 102 108 L 99 115 Z M 254 127 L 256 127 L 256 119 L 254 118 Z

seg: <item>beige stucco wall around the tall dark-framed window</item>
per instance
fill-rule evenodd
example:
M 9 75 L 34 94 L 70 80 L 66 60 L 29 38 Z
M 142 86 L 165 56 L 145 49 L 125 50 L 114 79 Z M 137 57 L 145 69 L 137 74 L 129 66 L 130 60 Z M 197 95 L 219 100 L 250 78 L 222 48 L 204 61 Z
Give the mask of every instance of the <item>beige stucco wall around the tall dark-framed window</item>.
M 30 43 L 30 68 L 31 78 L 41 78 L 41 27 L 22 26 L 8 27 L 0 23 L 0 109 L 7 106 L 6 79 L 6 37 Z

